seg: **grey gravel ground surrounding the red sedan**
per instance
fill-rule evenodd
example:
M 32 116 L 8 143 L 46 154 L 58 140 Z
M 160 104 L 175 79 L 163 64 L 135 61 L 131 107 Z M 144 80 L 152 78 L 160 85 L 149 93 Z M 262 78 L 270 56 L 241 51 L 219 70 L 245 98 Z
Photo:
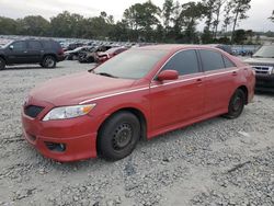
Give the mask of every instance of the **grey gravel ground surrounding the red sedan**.
M 233 121 L 216 117 L 141 141 L 129 157 L 58 163 L 23 140 L 20 110 L 47 79 L 88 70 L 0 72 L 0 205 L 274 205 L 274 95 L 255 95 Z

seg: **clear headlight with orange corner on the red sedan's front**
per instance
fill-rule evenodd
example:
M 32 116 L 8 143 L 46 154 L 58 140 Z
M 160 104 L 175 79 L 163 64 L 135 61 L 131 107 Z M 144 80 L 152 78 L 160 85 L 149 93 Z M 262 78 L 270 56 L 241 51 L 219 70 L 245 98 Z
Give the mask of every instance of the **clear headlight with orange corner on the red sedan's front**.
M 66 119 L 88 114 L 96 104 L 62 106 L 53 108 L 43 121 Z

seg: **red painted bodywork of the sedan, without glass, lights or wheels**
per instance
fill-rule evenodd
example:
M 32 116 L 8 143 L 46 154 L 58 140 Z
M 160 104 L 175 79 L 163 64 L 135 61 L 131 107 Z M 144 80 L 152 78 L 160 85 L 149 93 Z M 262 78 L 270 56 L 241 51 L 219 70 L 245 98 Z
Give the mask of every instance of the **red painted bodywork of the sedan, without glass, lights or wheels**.
M 162 81 L 155 79 L 162 65 L 174 53 L 189 48 L 217 50 L 237 67 L 178 78 L 174 71 L 167 71 Z M 22 111 L 23 130 L 27 141 L 44 156 L 58 161 L 95 158 L 98 130 L 118 110 L 135 108 L 142 113 L 147 123 L 147 138 L 150 139 L 227 113 L 229 100 L 239 87 L 248 89 L 248 102 L 253 98 L 254 75 L 251 68 L 219 49 L 193 45 L 148 46 L 139 49 L 167 49 L 170 53 L 139 80 L 81 72 L 49 80 L 32 90 L 24 106 L 38 105 L 45 108 L 36 118 L 26 116 Z M 96 106 L 81 117 L 42 121 L 54 107 L 81 103 L 96 103 Z M 65 152 L 50 151 L 45 141 L 66 144 L 67 149 Z

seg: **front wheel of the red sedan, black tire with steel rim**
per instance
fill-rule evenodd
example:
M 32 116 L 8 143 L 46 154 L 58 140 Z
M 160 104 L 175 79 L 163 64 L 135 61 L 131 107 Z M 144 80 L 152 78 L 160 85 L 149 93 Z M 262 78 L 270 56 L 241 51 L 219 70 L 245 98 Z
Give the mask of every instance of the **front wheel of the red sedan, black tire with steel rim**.
M 140 123 L 129 112 L 118 112 L 99 131 L 98 151 L 106 160 L 119 160 L 133 152 L 140 138 Z

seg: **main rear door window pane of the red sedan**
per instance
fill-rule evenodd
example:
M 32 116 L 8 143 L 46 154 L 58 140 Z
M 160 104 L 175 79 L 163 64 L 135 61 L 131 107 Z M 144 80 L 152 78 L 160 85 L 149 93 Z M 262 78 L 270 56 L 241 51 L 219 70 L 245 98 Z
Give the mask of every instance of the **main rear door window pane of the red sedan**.
M 199 50 L 199 55 L 204 71 L 213 71 L 226 68 L 221 54 L 213 50 Z

